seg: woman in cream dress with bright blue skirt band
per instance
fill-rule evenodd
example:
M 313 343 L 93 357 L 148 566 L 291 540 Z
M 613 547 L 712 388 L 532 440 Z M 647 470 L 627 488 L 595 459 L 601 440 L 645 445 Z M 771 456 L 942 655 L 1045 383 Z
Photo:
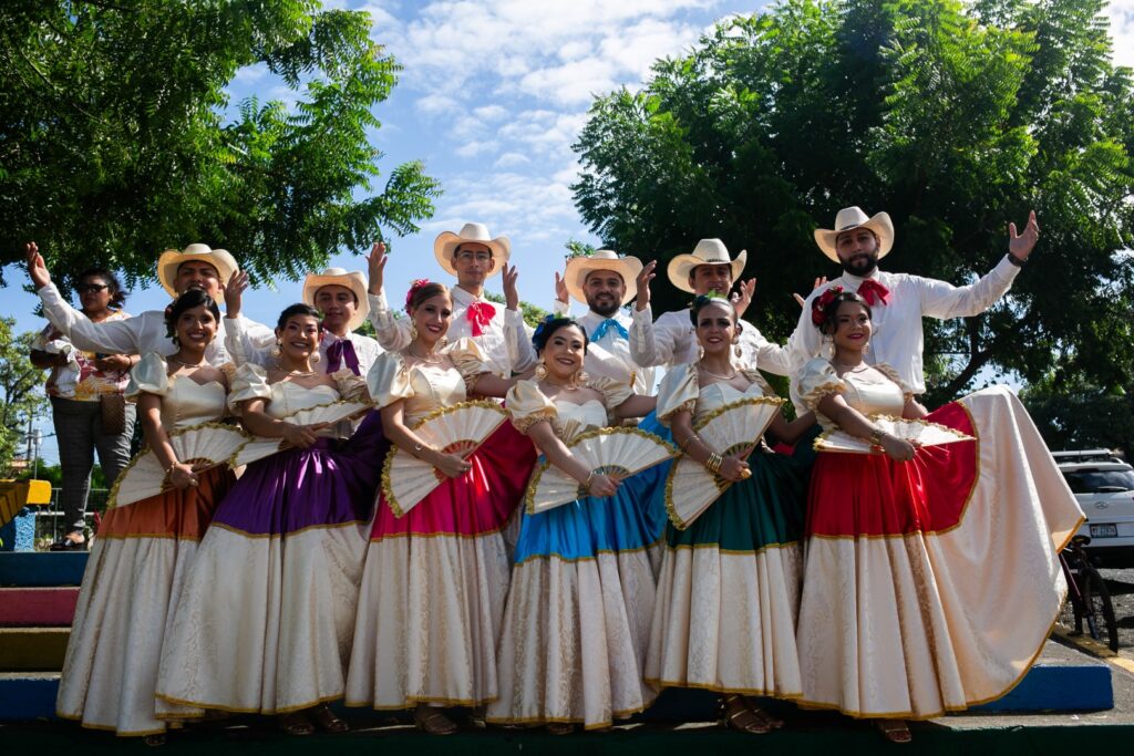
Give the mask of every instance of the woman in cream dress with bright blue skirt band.
M 651 413 L 653 397 L 583 373 L 586 333 L 549 317 L 532 339 L 535 379 L 508 393 L 508 414 L 552 465 L 587 495 L 523 513 L 503 636 L 498 646 L 500 698 L 490 722 L 544 724 L 566 734 L 596 730 L 644 710 L 655 693 L 642 683 L 653 613 L 657 543 L 650 504 L 663 477 L 642 487 L 590 469 L 567 444 L 616 418 Z M 649 470 L 648 470 L 649 472 Z

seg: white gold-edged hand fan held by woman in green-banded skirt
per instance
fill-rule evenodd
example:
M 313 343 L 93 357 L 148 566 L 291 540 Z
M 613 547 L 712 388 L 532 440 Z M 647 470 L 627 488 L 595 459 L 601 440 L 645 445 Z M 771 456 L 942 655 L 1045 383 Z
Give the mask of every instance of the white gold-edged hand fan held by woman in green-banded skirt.
M 736 453 L 747 457 L 782 404 L 778 397 L 741 399 L 701 418 L 693 424 L 693 430 L 722 457 Z M 701 462 L 688 457 L 678 459 L 666 481 L 666 509 L 670 521 L 678 530 L 684 530 L 730 485 L 730 481 L 713 475 Z

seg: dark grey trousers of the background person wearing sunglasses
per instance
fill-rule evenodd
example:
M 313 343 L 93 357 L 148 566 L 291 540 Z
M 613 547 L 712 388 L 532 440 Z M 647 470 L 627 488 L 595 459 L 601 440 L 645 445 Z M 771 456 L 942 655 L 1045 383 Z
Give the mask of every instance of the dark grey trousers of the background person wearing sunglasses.
M 64 474 L 59 506 L 67 520 L 67 532 L 82 532 L 85 527 L 86 495 L 91 490 L 94 450 L 99 450 L 99 464 L 102 466 L 102 474 L 107 478 L 109 489 L 130 461 L 135 407 L 126 405 L 124 433 L 102 431 L 102 407 L 98 401 L 75 401 L 52 397 L 51 411 L 56 425 L 56 441 L 59 444 L 59 466 Z

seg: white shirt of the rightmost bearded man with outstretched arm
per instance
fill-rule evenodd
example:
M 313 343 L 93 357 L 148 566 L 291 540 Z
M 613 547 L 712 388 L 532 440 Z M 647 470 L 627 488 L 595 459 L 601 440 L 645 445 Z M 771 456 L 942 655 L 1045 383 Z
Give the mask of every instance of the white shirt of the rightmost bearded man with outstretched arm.
M 914 393 L 924 393 L 922 350 L 925 339 L 922 318 L 945 320 L 979 315 L 1012 288 L 1019 267 L 1008 262 L 1007 256 L 985 275 L 968 286 L 953 286 L 908 273 L 885 273 L 877 267 L 866 278 L 844 273 L 829 281 L 827 286 L 815 289 L 807 297 L 803 313 L 799 314 L 799 323 L 780 352 L 778 362 L 780 365 L 786 365 L 794 375 L 809 359 L 820 356 L 823 341 L 819 329 L 811 322 L 812 300 L 832 286 L 841 286 L 846 291 L 857 291 L 869 278 L 889 289 L 890 303 L 875 304 L 871 307 L 874 334 L 870 340 L 866 362 L 871 365 L 879 363 L 889 365 Z M 793 385 L 793 390 L 794 388 Z

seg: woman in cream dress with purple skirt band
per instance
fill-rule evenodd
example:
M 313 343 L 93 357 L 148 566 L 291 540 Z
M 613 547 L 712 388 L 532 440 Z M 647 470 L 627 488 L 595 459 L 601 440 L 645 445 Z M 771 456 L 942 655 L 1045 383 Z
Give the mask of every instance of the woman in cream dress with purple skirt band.
M 196 716 L 260 713 L 278 715 L 289 734 L 316 725 L 342 732 L 346 722 L 327 703 L 345 690 L 374 495 L 363 465 L 381 460 L 336 451 L 322 425 L 288 421 L 320 405 L 369 400 L 364 379 L 349 369 L 314 368 L 319 311 L 291 305 L 276 333 L 276 364 L 243 364 L 229 402 L 249 432 L 287 449 L 248 465 L 218 508 L 177 606 L 158 695 Z

